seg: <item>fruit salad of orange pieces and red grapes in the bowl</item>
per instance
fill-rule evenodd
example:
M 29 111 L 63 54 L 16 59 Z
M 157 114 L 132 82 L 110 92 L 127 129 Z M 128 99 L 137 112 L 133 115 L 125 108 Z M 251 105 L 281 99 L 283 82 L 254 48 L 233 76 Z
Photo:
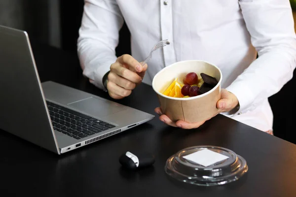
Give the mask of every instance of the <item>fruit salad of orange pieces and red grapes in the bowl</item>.
M 200 73 L 200 77 L 195 72 L 189 72 L 180 82 L 176 78 L 169 87 L 163 92 L 163 95 L 174 98 L 189 98 L 202 95 L 214 88 L 218 81 L 215 77 Z

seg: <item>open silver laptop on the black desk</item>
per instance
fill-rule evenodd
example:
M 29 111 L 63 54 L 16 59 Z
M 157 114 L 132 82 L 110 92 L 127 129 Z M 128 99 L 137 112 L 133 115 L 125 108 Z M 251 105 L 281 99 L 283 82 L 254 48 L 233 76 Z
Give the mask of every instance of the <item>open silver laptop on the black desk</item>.
M 3 26 L 0 26 L 0 91 L 0 129 L 57 154 L 154 118 L 52 81 L 41 84 L 28 34 Z

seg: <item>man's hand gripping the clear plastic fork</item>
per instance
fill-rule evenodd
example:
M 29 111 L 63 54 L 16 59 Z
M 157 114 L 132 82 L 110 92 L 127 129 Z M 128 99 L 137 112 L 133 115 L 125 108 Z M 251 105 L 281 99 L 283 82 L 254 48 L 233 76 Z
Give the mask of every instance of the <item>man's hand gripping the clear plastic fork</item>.
M 142 82 L 147 64 L 142 66 L 130 55 L 122 55 L 110 66 L 107 89 L 113 99 L 129 96 L 132 90 Z

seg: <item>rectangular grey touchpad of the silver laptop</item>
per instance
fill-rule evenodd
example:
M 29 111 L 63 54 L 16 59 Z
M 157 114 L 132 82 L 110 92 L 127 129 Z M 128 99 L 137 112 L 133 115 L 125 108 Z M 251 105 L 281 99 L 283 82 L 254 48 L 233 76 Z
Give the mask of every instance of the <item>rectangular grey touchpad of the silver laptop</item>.
M 125 110 L 127 107 L 109 100 L 101 100 L 90 97 L 68 104 L 81 112 L 88 113 L 96 117 L 104 117 L 118 111 Z

